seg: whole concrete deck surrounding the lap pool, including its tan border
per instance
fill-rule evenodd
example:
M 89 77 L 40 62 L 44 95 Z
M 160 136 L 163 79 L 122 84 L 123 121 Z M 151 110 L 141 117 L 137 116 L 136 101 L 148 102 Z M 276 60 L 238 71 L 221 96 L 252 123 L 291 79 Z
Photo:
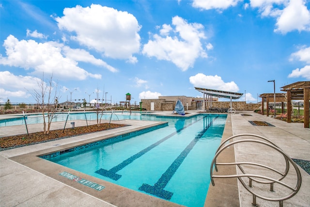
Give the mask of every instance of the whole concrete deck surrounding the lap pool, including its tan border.
M 160 111 L 157 114 L 171 114 L 171 111 Z M 241 114 L 250 116 L 242 116 Z M 275 127 L 253 126 L 248 121 L 264 121 Z M 85 121 L 78 120 L 75 122 L 76 127 L 86 125 Z M 47 163 L 46 160 L 36 157 L 36 155 L 57 151 L 63 147 L 70 148 L 70 146 L 76 145 L 77 143 L 87 143 L 101 139 L 102 137 L 111 137 L 143 127 L 160 124 L 159 122 L 136 120 L 122 120 L 115 121 L 114 123 L 128 124 L 131 126 L 1 151 L 1 206 L 180 206 L 70 170 L 70 173 L 74 175 L 81 176 L 106 187 L 102 191 L 95 191 L 89 187 L 73 183 L 70 179 L 61 177 L 59 175 L 60 172 L 68 172 L 65 167 Z M 52 127 L 62 128 L 63 122 L 53 123 Z M 71 127 L 71 125 L 67 127 Z M 41 130 L 42 124 L 29 125 L 28 129 L 30 132 Z M 0 136 L 20 133 L 25 133 L 24 126 L 0 127 Z M 310 160 L 310 129 L 303 128 L 303 124 L 286 123 L 252 111 L 238 111 L 236 114 L 229 114 L 223 139 L 243 133 L 257 134 L 270 139 L 278 144 L 292 159 Z M 255 159 L 260 158 L 264 154 L 266 154 L 266 151 L 258 148 L 257 145 L 248 144 L 246 148 L 236 146 L 234 148 L 232 147 L 228 154 L 225 155 L 225 161 L 228 159 L 242 160 L 243 158 L 247 158 L 248 161 L 254 162 L 256 161 Z M 274 158 L 272 165 L 283 164 L 279 158 Z M 294 197 L 283 202 L 284 207 L 308 207 L 310 204 L 310 175 L 300 167 L 299 170 L 302 175 L 301 188 Z M 209 187 L 205 207 L 251 206 L 252 195 L 240 183 L 237 183 L 236 178 L 216 179 L 215 184 L 214 187 L 212 185 Z M 256 202 L 260 207 L 279 206 L 279 202 L 264 201 L 259 198 L 257 198 Z

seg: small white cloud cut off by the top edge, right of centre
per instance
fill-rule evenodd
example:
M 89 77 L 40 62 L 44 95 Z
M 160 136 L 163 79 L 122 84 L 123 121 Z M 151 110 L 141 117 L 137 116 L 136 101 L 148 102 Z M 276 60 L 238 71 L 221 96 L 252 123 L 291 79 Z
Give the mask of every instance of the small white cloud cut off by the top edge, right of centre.
M 193 7 L 200 9 L 227 9 L 242 0 L 193 0 Z

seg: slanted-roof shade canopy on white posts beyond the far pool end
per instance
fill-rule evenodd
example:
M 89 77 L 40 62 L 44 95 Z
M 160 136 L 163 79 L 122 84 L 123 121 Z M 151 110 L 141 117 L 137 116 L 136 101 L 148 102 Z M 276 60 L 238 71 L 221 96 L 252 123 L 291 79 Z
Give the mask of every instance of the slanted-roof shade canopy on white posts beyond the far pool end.
M 232 99 L 238 99 L 241 96 L 243 96 L 243 94 L 241 93 L 235 93 L 235 92 L 230 92 L 230 91 L 219 91 L 219 90 L 213 90 L 213 89 L 206 89 L 206 88 L 198 88 L 195 87 L 195 89 L 199 92 L 203 93 L 203 110 L 204 110 L 204 100 L 205 100 L 205 95 L 209 96 L 208 101 L 211 102 L 212 105 L 212 97 L 219 97 L 219 98 L 230 98 L 231 99 L 231 108 L 232 108 Z

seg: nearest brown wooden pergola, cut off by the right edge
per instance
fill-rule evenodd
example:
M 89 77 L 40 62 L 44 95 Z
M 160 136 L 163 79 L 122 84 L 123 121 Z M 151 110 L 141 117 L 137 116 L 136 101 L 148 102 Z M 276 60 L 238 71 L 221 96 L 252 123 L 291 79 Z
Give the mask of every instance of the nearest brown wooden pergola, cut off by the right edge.
M 281 87 L 287 96 L 287 122 L 292 120 L 291 100 L 304 100 L 304 128 L 309 128 L 310 81 L 299 81 Z

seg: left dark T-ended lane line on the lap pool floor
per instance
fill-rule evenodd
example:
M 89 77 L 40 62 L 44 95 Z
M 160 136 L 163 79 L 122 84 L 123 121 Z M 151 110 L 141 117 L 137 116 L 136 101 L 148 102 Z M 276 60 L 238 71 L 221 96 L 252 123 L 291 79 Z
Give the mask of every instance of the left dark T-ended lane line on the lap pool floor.
M 196 122 L 200 121 L 201 119 L 197 120 Z M 193 125 L 194 123 L 190 123 L 188 124 L 186 127 L 189 127 L 191 125 Z M 180 128 L 177 131 L 171 133 L 170 135 L 164 137 L 163 139 L 157 141 L 154 144 L 151 144 L 150 146 L 142 149 L 140 152 L 138 152 L 137 154 L 131 156 L 130 158 L 124 160 L 122 163 L 116 165 L 115 167 L 111 168 L 110 170 L 105 170 L 100 168 L 99 170 L 95 171 L 95 173 L 105 176 L 105 177 L 109 177 L 113 180 L 118 180 L 122 177 L 122 175 L 116 174 L 116 172 L 122 170 L 124 167 L 126 167 L 127 165 L 129 165 L 131 162 L 135 161 L 136 159 L 140 158 L 142 155 L 144 155 L 145 153 L 147 153 L 148 151 L 150 151 L 151 149 L 153 149 L 154 147 L 156 147 L 158 144 L 163 143 L 164 141 L 168 140 L 169 138 L 171 138 L 173 135 L 180 133 L 181 130 L 185 129 L 186 127 Z

